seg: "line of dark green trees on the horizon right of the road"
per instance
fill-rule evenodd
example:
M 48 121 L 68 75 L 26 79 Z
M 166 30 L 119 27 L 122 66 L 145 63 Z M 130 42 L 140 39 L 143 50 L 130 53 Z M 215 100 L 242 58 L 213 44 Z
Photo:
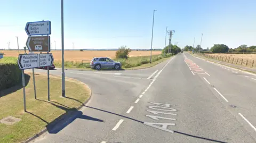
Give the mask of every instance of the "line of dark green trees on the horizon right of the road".
M 209 49 L 208 47 L 206 49 L 203 49 L 200 47 L 200 45 L 197 45 L 196 48 L 193 48 L 192 46 L 185 46 L 184 47 L 184 51 L 193 51 L 194 52 L 198 52 L 199 49 L 201 52 L 205 52 L 205 51 L 209 51 L 212 53 L 227 53 L 227 52 L 256 52 L 256 46 L 250 46 L 248 47 L 247 45 L 241 45 L 237 48 L 229 48 L 227 45 L 225 44 L 214 44 L 213 47 L 211 47 L 211 49 Z

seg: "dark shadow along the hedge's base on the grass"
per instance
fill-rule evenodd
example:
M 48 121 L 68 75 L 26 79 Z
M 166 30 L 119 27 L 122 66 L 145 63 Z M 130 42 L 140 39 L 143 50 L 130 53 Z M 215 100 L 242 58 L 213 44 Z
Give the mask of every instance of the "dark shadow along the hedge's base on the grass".
M 25 86 L 28 85 L 29 80 L 30 80 L 30 75 L 25 74 Z M 12 92 L 15 92 L 15 91 L 17 91 L 21 88 L 22 88 L 22 79 L 20 77 L 20 81 L 16 86 L 13 86 L 13 87 L 10 87 L 10 88 L 7 88 L 7 89 L 4 89 L 4 90 L 0 91 L 0 98 L 3 97 L 3 96 L 9 95 Z

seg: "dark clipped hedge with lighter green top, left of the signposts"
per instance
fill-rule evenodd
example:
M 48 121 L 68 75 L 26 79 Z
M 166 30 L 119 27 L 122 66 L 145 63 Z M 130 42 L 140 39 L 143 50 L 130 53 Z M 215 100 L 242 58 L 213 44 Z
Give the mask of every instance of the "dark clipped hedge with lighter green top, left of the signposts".
M 0 59 L 0 90 L 13 87 L 21 79 L 18 58 L 4 57 Z

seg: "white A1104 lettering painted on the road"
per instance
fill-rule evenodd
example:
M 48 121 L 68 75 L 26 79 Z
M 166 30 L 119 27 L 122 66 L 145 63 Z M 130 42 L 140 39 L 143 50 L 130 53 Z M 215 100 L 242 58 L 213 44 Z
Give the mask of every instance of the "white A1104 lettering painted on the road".
M 147 110 L 147 112 L 152 113 L 154 115 L 146 115 L 147 117 L 150 117 L 153 120 L 164 119 L 164 120 L 176 121 L 176 119 L 174 119 L 172 117 L 156 116 L 156 115 L 161 115 L 161 114 L 176 116 L 177 114 L 171 113 L 171 112 L 177 112 L 176 109 L 171 108 L 171 106 L 175 106 L 175 105 L 167 104 L 167 103 L 154 103 L 154 102 L 149 102 L 149 103 L 154 104 L 154 106 L 148 106 L 148 108 L 150 108 L 150 110 Z M 156 110 L 156 111 L 152 111 L 152 110 Z M 150 127 L 154 127 L 154 128 L 163 130 L 163 131 L 167 131 L 167 132 L 171 132 L 171 133 L 174 132 L 173 130 L 168 129 L 168 127 L 174 126 L 175 123 L 144 122 L 144 124 L 146 124 Z

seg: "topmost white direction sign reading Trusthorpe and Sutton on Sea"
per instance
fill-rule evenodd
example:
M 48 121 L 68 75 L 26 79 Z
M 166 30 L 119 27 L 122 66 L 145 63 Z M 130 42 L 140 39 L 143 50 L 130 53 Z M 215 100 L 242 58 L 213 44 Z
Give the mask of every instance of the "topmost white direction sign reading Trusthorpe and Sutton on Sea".
M 51 21 L 28 22 L 25 27 L 27 35 L 50 35 Z

